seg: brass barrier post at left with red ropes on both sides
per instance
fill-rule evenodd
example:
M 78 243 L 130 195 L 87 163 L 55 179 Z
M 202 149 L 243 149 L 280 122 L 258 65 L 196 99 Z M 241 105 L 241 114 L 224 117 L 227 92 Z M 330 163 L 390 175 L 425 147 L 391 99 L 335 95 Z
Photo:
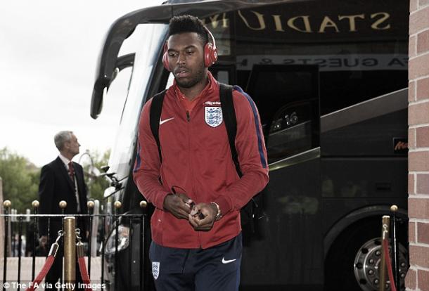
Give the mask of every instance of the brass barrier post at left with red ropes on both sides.
M 74 216 L 64 217 L 64 281 L 65 290 L 74 290 L 76 283 L 76 221 Z

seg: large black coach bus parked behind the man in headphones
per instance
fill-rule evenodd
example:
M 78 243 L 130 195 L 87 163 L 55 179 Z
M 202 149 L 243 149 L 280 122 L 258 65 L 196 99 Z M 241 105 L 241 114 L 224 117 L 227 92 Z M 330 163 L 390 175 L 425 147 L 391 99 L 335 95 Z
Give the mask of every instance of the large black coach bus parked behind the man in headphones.
M 162 66 L 169 19 L 196 15 L 216 39 L 219 60 L 210 71 L 249 93 L 267 145 L 262 211 L 243 224 L 241 290 L 378 290 L 380 221 L 393 204 L 404 290 L 408 11 L 402 0 L 170 0 L 117 19 L 105 37 L 91 100 L 95 119 L 115 77 L 127 76 L 108 170 L 118 183 L 105 190 L 105 211 L 115 200 L 121 213 L 143 211 L 132 179 L 139 115 L 172 84 Z M 139 45 L 121 55 L 133 37 Z M 143 282 L 151 290 L 148 221 L 144 233 L 120 224 L 121 267 L 114 274 L 115 225 L 109 224 L 105 280 L 127 290 L 141 290 Z M 143 250 L 136 243 L 129 252 L 129 241 L 141 235 Z M 129 259 L 131 269 L 122 264 Z

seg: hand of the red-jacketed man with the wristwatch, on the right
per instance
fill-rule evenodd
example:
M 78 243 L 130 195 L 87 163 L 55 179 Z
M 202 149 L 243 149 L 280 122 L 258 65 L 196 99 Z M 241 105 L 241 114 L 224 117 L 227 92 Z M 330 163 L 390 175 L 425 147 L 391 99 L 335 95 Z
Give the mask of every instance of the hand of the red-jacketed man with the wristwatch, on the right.
M 193 207 L 189 214 L 189 223 L 196 231 L 210 231 L 213 227 L 216 214 L 216 205 L 212 203 L 199 203 Z

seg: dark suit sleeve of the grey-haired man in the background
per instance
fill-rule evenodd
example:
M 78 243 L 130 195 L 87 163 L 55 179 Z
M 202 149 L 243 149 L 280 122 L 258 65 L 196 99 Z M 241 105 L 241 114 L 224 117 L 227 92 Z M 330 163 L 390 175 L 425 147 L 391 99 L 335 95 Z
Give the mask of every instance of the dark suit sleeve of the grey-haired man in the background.
M 52 214 L 53 193 L 55 187 L 55 176 L 49 165 L 41 168 L 39 183 L 39 214 Z M 48 219 L 39 219 L 39 234 L 48 235 Z

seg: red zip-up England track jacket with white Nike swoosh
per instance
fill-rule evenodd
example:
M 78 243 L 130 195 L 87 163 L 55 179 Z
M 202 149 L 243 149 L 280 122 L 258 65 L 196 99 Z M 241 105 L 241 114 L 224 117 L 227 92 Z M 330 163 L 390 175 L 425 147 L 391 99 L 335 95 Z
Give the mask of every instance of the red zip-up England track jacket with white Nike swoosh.
M 165 93 L 159 127 L 162 164 L 149 122 L 152 102 L 141 112 L 134 181 L 156 207 L 151 219 L 152 239 L 165 247 L 205 249 L 234 238 L 241 231 L 241 207 L 268 183 L 267 150 L 255 103 L 235 87 L 240 179 L 222 121 L 219 84 L 210 73 L 209 77 L 211 82 L 191 113 L 179 100 L 175 82 Z M 195 231 L 186 219 L 165 212 L 162 205 L 172 186 L 184 189 L 196 204 L 216 202 L 222 219 L 215 221 L 210 231 Z

